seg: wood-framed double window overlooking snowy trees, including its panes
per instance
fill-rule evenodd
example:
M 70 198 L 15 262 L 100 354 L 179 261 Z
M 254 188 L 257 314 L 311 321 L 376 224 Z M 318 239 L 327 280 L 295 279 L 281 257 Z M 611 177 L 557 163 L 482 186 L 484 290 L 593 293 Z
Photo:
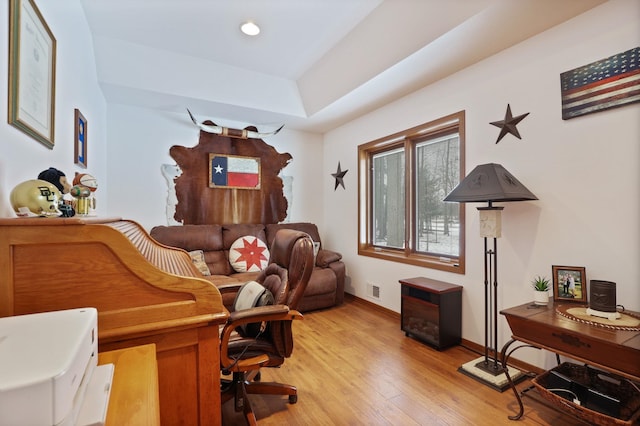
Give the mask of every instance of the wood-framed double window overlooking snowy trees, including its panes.
M 358 147 L 358 253 L 464 273 L 464 111 Z

